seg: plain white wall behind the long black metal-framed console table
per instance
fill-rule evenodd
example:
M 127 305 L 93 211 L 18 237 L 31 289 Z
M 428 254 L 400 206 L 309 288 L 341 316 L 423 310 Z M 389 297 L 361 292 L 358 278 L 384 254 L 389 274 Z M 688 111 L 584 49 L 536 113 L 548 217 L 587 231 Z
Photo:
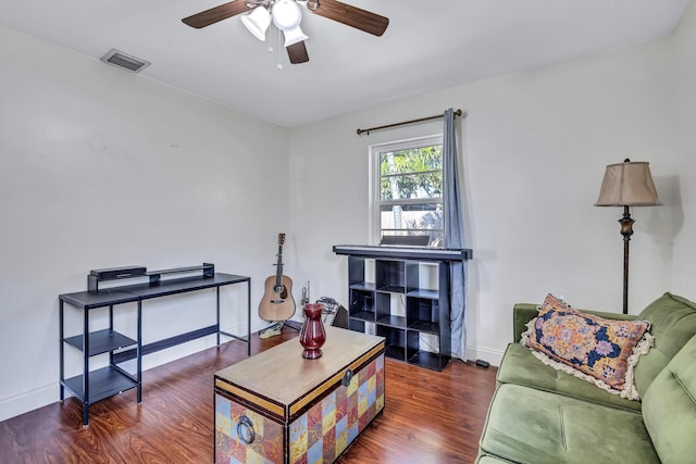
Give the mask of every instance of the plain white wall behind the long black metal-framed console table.
M 263 327 L 261 283 L 287 226 L 287 130 L 1 27 L 0 62 L 0 419 L 58 400 L 58 294 L 86 290 L 89 269 L 212 262 L 252 277 Z M 212 290 L 144 308 L 145 342 L 214 324 Z M 224 290 L 222 309 L 245 334 L 246 287 Z M 117 314 L 134 334 L 134 308 Z M 69 335 L 80 315 L 66 308 Z M 74 375 L 79 353 L 66 353 Z

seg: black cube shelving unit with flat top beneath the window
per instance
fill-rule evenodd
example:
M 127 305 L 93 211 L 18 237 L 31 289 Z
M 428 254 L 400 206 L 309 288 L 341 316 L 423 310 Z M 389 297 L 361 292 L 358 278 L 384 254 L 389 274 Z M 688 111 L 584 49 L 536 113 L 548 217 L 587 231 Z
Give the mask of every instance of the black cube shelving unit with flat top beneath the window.
M 348 328 L 365 331 L 365 324 L 372 324 L 386 339 L 387 356 L 444 369 L 451 355 L 449 264 L 471 260 L 472 251 L 337 244 L 334 253 L 348 256 Z M 368 263 L 374 267 L 373 279 L 368 278 Z M 434 281 L 423 287 L 428 274 Z M 436 347 L 425 338 L 435 339 Z

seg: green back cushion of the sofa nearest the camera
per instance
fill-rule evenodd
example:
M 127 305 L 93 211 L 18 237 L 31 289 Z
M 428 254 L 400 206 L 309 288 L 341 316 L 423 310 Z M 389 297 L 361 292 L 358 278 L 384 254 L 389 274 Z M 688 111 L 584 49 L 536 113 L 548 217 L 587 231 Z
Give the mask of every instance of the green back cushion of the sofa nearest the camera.
M 643 419 L 663 463 L 696 459 L 696 337 L 658 374 L 643 400 Z

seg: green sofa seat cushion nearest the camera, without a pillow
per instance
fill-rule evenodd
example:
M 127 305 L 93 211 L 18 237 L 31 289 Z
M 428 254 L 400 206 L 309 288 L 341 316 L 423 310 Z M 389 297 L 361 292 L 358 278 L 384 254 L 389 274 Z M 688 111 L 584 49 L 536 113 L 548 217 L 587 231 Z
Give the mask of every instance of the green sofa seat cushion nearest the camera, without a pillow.
M 502 384 L 481 437 L 482 454 L 517 463 L 659 463 L 642 415 Z

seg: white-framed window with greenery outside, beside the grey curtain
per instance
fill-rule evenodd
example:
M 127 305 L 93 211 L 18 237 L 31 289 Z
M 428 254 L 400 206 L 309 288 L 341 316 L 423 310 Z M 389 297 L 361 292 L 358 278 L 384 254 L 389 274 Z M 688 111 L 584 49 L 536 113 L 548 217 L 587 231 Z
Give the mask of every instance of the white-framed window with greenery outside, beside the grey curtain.
M 427 236 L 430 247 L 442 247 L 442 136 L 373 146 L 371 156 L 374 242 Z

